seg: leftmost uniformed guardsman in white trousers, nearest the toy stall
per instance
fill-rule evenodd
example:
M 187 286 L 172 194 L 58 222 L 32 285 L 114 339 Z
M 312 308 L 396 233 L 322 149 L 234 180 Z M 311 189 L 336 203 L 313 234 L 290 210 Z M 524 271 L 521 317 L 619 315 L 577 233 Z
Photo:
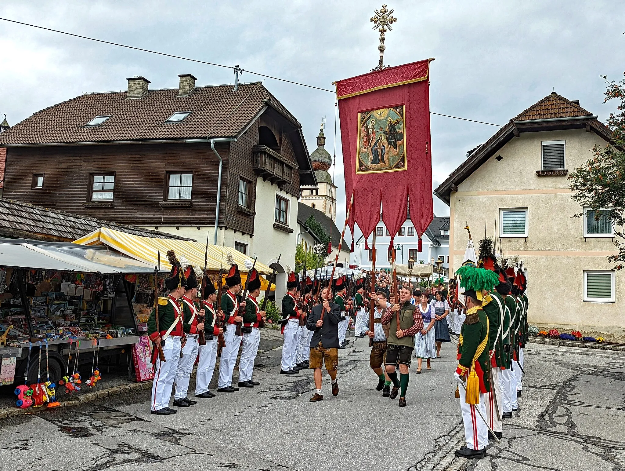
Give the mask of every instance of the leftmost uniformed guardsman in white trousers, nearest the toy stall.
M 165 286 L 169 290 L 166 297 L 158 298 L 158 322 L 159 331 L 156 330 L 156 309 L 153 309 L 148 318 L 148 335 L 154 342 L 153 356 L 156 355 L 154 382 L 152 383 L 151 413 L 157 415 L 169 415 L 178 412 L 169 408 L 171 390 L 174 386 L 174 378 L 180 360 L 180 350 L 184 337 L 183 308 L 179 299 L 186 291 L 187 280 L 184 278 L 180 262 L 176 253 L 169 250 L 167 253 L 171 271 L 165 278 Z M 158 358 L 158 345 L 163 347 L 165 361 Z

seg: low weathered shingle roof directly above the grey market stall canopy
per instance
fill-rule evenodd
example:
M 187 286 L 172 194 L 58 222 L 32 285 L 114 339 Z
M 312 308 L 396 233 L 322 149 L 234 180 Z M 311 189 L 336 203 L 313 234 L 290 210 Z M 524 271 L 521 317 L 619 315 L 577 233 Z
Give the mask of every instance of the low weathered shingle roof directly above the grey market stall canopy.
M 136 226 L 109 223 L 77 216 L 65 211 L 0 198 L 0 236 L 30 239 L 74 241 L 96 229 L 106 227 L 144 237 L 191 240 Z

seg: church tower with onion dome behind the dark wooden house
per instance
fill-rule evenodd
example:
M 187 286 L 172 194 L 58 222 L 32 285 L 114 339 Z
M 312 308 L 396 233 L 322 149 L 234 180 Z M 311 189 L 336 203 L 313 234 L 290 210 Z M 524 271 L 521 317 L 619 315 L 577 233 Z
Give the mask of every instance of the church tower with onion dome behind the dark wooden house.
M 301 186 L 301 202 L 321 211 L 336 222 L 336 185 L 328 170 L 332 166 L 332 156 L 325 148 L 326 136 L 323 124 L 317 136 L 317 148 L 311 153 L 312 170 L 317 177 L 317 186 Z

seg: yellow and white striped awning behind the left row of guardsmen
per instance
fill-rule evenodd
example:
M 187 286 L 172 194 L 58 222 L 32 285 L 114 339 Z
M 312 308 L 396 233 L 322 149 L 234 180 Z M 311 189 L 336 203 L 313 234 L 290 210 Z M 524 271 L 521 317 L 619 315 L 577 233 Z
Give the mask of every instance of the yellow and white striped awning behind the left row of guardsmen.
M 140 260 L 154 266 L 158 264 L 156 258 L 160 251 L 161 270 L 167 271 L 171 270 L 171 265 L 169 265 L 169 261 L 167 260 L 167 251 L 174 250 L 178 258 L 184 256 L 191 265 L 204 268 L 204 251 L 206 250 L 206 244 L 191 240 L 144 237 L 103 227 L 78 240 L 74 240 L 74 243 L 79 245 L 106 245 L 135 260 Z M 226 261 L 228 253 L 232 254 L 234 262 L 239 265 L 241 278 L 245 278 L 247 275 L 245 262 L 249 260 L 251 263 L 254 259 L 231 247 L 209 245 L 206 269 L 219 271 L 221 268 L 224 268 L 224 270 L 227 270 L 229 268 Z M 269 266 L 259 261 L 256 261 L 256 270 L 265 275 L 271 275 L 273 271 Z

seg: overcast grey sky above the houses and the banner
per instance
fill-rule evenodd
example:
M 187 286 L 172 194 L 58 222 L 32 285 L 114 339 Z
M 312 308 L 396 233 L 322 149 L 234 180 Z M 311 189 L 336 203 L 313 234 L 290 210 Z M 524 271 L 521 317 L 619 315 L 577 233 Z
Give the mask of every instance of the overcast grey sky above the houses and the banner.
M 386 34 L 385 63 L 434 57 L 431 111 L 505 124 L 551 91 L 604 121 L 600 75 L 625 70 L 625 3 L 620 1 L 387 0 L 397 23 Z M 332 81 L 377 64 L 378 34 L 369 18 L 379 1 L 4 1 L 0 16 L 140 48 L 201 59 L 332 89 Z M 71 38 L 0 21 L 0 113 L 9 124 L 84 92 L 126 89 L 143 75 L 151 88 L 231 83 L 230 69 Z M 244 73 L 242 81 L 258 76 Z M 262 79 L 262 78 L 260 78 Z M 326 116 L 332 154 L 334 94 L 264 79 L 302 123 L 309 150 Z M 436 188 L 498 128 L 432 116 Z M 337 131 L 340 136 L 340 131 Z M 337 226 L 344 220 L 340 139 Z M 330 170 L 332 174 L 332 170 Z M 434 197 L 436 215 L 449 208 Z

